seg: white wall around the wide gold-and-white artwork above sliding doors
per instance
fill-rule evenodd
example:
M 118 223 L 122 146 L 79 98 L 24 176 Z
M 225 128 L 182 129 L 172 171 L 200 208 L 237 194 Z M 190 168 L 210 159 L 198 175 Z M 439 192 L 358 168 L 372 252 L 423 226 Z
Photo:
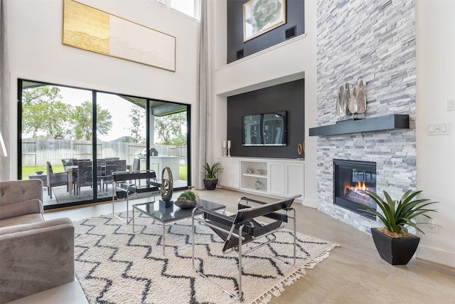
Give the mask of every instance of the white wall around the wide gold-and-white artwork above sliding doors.
M 11 126 L 17 125 L 17 78 L 196 103 L 199 23 L 147 0 L 81 2 L 175 36 L 176 72 L 64 46 L 63 0 L 8 0 Z M 11 179 L 16 179 L 18 143 L 12 129 Z

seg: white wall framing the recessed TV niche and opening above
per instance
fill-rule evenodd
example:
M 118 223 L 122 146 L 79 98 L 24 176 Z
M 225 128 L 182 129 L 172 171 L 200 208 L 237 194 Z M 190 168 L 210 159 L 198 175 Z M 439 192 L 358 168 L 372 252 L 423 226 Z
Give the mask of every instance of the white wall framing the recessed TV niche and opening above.
M 215 18 L 209 28 L 212 49 L 210 92 L 210 159 L 222 155 L 222 142 L 226 139 L 227 97 L 270 85 L 305 78 L 305 197 L 304 204 L 316 207 L 316 139 L 308 137 L 309 127 L 316 126 L 316 1 L 305 1 L 304 36 L 274 46 L 252 56 L 226 65 L 226 3 L 210 1 Z M 220 39 L 223 37 L 223 39 Z M 240 143 L 233 143 L 239 145 Z

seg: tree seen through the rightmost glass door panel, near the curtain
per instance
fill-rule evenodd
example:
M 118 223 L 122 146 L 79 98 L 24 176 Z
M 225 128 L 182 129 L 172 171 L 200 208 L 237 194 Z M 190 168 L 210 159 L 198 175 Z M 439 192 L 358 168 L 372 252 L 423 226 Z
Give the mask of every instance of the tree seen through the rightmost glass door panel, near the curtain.
M 186 146 L 186 112 L 156 117 L 155 132 L 162 145 Z

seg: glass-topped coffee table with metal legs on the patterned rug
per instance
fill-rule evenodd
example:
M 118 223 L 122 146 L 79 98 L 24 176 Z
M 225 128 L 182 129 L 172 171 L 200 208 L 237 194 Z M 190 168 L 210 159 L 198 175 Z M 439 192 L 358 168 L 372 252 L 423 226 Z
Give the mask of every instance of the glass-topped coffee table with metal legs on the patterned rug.
M 225 211 L 226 206 L 221 204 L 216 204 L 211 201 L 205 201 L 205 199 L 199 199 L 199 202 L 196 206 L 203 206 L 204 208 L 213 210 L 213 211 Z M 163 208 L 159 206 L 159 201 L 149 201 L 147 203 L 134 204 L 133 205 L 133 233 L 134 233 L 134 211 L 138 211 L 146 216 L 156 219 L 163 224 L 163 256 L 165 254 L 166 248 L 166 224 L 173 223 L 174 221 L 182 221 L 184 219 L 191 219 L 193 214 L 193 208 L 191 209 L 181 209 L 175 204 L 172 204 L 171 207 Z M 196 211 L 196 214 L 201 214 L 202 212 Z

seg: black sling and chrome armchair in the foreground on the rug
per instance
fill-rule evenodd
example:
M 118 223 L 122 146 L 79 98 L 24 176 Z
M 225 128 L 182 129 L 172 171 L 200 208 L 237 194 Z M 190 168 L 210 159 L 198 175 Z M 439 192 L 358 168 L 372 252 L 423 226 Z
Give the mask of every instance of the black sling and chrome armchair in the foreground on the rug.
M 219 285 L 218 283 L 215 283 L 215 285 L 218 285 L 219 288 L 237 300 L 242 299 L 242 256 L 249 253 L 250 251 L 254 251 L 257 248 L 275 241 L 277 237 L 274 235 L 274 233 L 281 229 L 284 229 L 287 226 L 289 219 L 293 219 L 294 221 L 294 227 L 292 231 L 294 237 L 294 259 L 292 265 L 294 265 L 296 262 L 296 214 L 294 208 L 292 208 L 291 205 L 294 202 L 294 199 L 299 196 L 301 195 L 299 194 L 287 199 L 272 201 L 270 203 L 264 203 L 263 201 L 257 201 L 255 199 L 242 197 L 238 201 L 237 213 L 232 214 L 232 216 L 220 214 L 216 211 L 211 211 L 197 206 L 195 209 L 193 209 L 192 216 L 192 261 L 194 270 L 212 283 L 215 283 L 215 281 L 211 280 L 208 278 L 208 276 L 205 276 L 205 274 L 201 272 L 202 268 L 198 269 L 195 266 L 195 221 L 198 221 L 200 224 L 210 227 L 210 229 L 212 229 L 215 234 L 223 239 L 223 253 L 230 253 L 231 251 L 237 252 L 237 295 L 223 288 L 223 286 Z M 256 205 L 250 206 L 249 203 L 255 203 Z M 292 214 L 288 215 L 291 211 Z M 201 217 L 199 216 L 200 212 L 202 212 Z M 247 245 L 250 245 L 250 247 L 246 248 Z M 200 260 L 200 258 L 198 259 Z M 220 263 L 222 263 L 222 260 L 220 260 Z

